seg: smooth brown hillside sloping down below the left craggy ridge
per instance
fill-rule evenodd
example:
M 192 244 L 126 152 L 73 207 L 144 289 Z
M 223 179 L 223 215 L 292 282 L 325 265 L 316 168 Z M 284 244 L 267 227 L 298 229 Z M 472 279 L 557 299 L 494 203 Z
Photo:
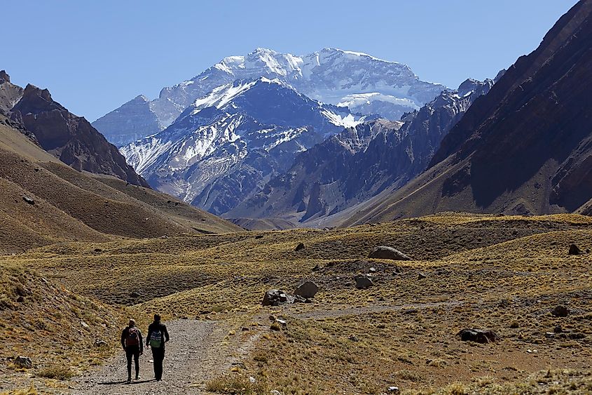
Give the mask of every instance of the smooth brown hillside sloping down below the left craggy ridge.
M 18 130 L 0 125 L 0 228 L 6 235 L 0 253 L 57 241 L 108 241 L 109 235 L 240 230 L 165 194 L 106 177 L 69 168 Z

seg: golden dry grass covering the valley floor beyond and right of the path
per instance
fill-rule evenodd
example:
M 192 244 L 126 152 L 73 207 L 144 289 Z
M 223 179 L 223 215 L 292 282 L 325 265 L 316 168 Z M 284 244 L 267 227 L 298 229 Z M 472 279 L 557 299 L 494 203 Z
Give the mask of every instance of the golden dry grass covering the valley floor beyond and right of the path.
M 580 372 L 579 389 L 592 360 L 591 259 L 567 249 L 592 248 L 591 225 L 578 215 L 446 213 L 347 229 L 60 243 L 1 261 L 127 306 L 116 311 L 141 321 L 160 312 L 225 321 L 230 336 L 262 331 L 245 367 L 212 382 L 221 392 L 250 375 L 284 394 L 380 394 L 390 385 L 497 394 L 549 368 L 569 387 L 566 367 Z M 413 260 L 368 259 L 380 245 Z M 355 289 L 360 273 L 375 285 Z M 291 292 L 305 279 L 321 287 L 315 303 L 260 306 L 265 290 Z M 569 316 L 551 314 L 558 304 Z M 287 328 L 271 330 L 269 314 L 284 316 Z M 549 335 L 557 326 L 562 332 Z M 465 327 L 496 330 L 502 341 L 461 342 Z

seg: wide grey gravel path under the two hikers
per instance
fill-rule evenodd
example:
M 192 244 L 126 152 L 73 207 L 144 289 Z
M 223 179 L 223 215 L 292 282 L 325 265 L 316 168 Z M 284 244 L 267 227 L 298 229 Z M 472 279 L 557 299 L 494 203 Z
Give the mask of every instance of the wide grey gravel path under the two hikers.
M 144 349 L 144 355 L 140 356 L 140 379 L 125 384 L 128 373 L 125 355 L 121 352 L 99 370 L 79 377 L 73 393 L 205 394 L 207 380 L 228 371 L 231 364 L 240 359 L 221 345 L 227 333 L 221 323 L 187 319 L 167 321 L 166 324 L 171 340 L 167 342 L 163 381 L 153 380 L 152 352 Z

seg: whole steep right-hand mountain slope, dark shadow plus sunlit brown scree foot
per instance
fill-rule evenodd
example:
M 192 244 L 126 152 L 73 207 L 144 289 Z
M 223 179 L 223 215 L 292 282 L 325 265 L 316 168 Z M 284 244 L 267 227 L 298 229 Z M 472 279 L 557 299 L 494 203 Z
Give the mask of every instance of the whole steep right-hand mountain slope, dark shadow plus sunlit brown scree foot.
M 558 213 L 592 197 L 592 1 L 580 1 L 479 98 L 431 168 L 344 224 L 442 210 Z

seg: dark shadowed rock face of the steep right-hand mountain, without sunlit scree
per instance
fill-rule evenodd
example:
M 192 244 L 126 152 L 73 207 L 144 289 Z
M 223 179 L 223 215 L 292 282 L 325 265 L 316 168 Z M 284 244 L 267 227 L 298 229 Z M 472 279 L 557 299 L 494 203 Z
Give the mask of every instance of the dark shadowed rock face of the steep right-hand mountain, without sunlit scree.
M 470 156 L 464 187 L 477 206 L 488 208 L 542 168 L 551 178 L 532 185 L 546 197 L 530 213 L 548 213 L 553 205 L 573 211 L 591 199 L 591 13 L 592 2 L 580 1 L 560 18 L 443 141 L 432 164 L 451 154 L 455 161 Z

